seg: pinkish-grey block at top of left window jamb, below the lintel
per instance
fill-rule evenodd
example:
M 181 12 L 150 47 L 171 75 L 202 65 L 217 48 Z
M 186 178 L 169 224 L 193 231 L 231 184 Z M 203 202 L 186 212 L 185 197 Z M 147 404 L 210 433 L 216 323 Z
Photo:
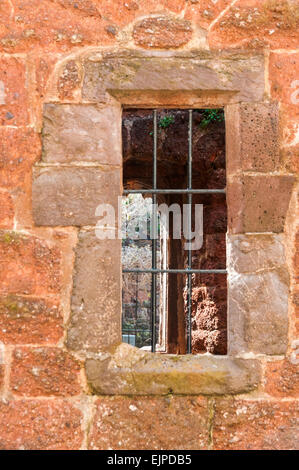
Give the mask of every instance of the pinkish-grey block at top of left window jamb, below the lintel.
M 120 165 L 120 109 L 116 106 L 45 105 L 43 161 Z

